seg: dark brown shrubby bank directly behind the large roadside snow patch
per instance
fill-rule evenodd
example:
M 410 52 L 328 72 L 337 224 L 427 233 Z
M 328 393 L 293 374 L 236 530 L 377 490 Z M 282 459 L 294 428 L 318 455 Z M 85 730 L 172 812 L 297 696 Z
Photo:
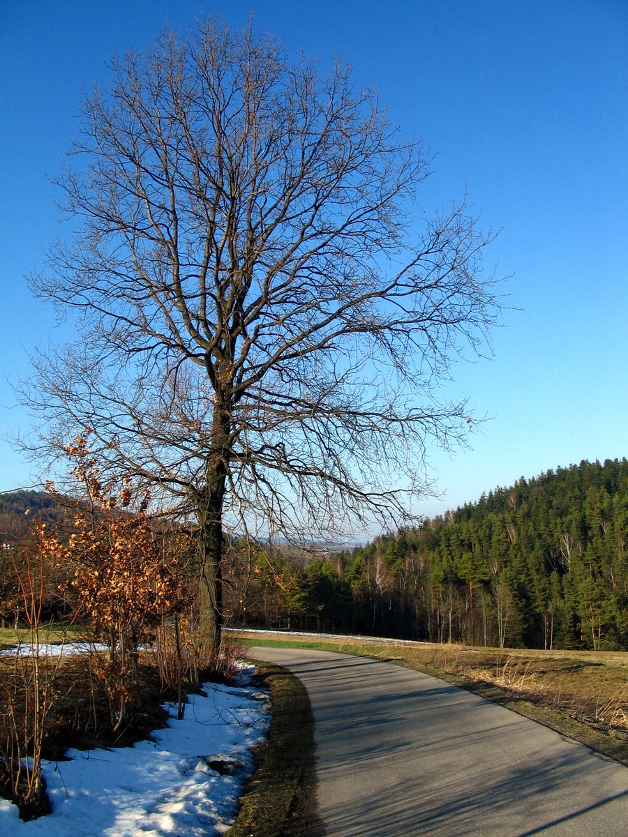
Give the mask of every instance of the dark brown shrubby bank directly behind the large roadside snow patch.
M 126 691 L 125 721 L 112 723 L 111 679 L 107 676 L 109 655 L 92 647 L 85 654 L 63 656 L 54 651 L 46 655 L 23 653 L 0 655 L 0 797 L 18 805 L 20 817 L 34 819 L 49 813 L 45 786 L 37 794 L 28 793 L 28 764 L 33 752 L 41 760 L 63 761 L 71 748 L 124 747 L 150 738 L 154 730 L 164 727 L 166 701 L 179 703 L 183 716 L 185 695 L 198 689 L 204 680 L 231 682 L 239 668 L 236 660 L 242 653 L 234 643 L 224 644 L 219 661 L 211 669 L 186 669 L 193 679 L 164 679 L 164 665 L 172 650 L 142 651 L 134 662 L 132 688 Z M 59 646 L 60 648 L 60 646 Z M 165 662 L 164 662 L 165 660 Z M 35 671 L 37 666 L 39 671 Z M 172 664 L 169 665 L 172 669 Z M 45 723 L 38 729 L 33 724 L 33 691 L 42 671 L 54 670 L 54 680 L 46 686 Z M 183 686 L 183 689 L 182 689 Z M 182 706 L 183 703 L 183 706 Z M 27 756 L 29 758 L 27 758 Z

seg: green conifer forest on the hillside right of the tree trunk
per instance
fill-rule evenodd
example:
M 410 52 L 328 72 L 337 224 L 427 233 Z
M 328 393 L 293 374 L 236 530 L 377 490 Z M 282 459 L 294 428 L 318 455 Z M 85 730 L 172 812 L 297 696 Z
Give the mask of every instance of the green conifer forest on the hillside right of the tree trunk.
M 628 461 L 521 478 L 352 551 L 250 562 L 228 573 L 235 624 L 628 650 Z

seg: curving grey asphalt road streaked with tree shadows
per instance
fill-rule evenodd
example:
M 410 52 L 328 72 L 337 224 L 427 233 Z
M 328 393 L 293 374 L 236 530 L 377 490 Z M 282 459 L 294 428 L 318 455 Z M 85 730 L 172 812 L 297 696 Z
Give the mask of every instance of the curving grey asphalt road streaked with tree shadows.
M 628 768 L 444 680 L 253 648 L 305 684 L 328 837 L 628 837 Z

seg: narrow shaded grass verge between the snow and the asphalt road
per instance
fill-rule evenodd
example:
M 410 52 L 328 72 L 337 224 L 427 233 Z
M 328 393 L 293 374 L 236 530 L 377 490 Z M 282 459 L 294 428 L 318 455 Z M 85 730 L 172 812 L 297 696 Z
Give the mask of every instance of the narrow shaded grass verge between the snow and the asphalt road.
M 290 671 L 262 663 L 258 679 L 270 691 L 272 721 L 255 751 L 229 837 L 305 837 L 317 829 L 314 721 L 305 686 Z

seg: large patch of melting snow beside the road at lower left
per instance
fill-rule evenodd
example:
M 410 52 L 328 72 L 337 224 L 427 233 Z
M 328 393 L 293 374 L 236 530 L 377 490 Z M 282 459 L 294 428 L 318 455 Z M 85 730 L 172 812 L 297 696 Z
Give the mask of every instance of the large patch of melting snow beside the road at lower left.
M 44 762 L 52 814 L 23 823 L 0 799 L 0 837 L 214 837 L 238 813 L 252 748 L 270 726 L 268 695 L 247 686 L 203 684 L 183 721 L 176 706 L 152 741 L 109 750 L 68 750 Z

